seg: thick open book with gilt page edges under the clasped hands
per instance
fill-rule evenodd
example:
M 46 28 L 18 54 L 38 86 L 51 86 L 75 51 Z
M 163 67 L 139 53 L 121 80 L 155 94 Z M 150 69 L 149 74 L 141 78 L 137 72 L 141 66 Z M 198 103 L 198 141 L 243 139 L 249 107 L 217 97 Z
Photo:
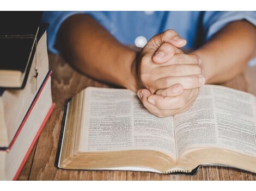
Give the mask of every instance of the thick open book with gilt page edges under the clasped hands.
M 204 85 L 185 113 L 159 118 L 129 90 L 88 87 L 66 104 L 64 169 L 193 173 L 225 165 L 256 173 L 256 97 Z

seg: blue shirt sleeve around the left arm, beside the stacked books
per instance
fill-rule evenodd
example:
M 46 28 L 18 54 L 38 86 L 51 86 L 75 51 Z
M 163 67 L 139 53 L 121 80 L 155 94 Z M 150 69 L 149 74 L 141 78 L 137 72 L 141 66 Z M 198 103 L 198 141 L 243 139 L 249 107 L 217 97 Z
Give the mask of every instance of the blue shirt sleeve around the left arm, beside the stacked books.
M 47 29 L 47 47 L 54 54 L 59 54 L 55 47 L 57 33 L 61 24 L 70 16 L 82 13 L 81 11 L 44 11 L 42 22 L 49 23 Z

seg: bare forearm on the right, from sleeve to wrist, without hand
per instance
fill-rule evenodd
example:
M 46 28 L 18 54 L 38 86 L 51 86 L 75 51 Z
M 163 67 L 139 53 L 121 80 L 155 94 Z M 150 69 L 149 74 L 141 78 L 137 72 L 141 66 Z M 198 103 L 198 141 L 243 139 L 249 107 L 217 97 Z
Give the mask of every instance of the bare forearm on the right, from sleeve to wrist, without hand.
M 203 47 L 192 52 L 202 59 L 206 83 L 217 84 L 241 73 L 255 56 L 256 29 L 247 21 L 228 24 Z

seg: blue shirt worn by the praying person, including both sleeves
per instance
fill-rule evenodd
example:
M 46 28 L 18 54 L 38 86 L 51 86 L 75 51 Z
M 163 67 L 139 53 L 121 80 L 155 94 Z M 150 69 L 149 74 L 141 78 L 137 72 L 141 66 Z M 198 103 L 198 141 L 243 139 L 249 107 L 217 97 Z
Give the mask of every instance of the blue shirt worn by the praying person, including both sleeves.
M 187 40 L 187 49 L 196 49 L 229 22 L 247 20 L 256 25 L 255 11 L 45 11 L 42 21 L 48 28 L 48 50 L 58 54 L 55 47 L 59 27 L 74 14 L 89 14 L 119 42 L 135 44 L 138 36 L 150 40 L 167 29 L 175 30 Z

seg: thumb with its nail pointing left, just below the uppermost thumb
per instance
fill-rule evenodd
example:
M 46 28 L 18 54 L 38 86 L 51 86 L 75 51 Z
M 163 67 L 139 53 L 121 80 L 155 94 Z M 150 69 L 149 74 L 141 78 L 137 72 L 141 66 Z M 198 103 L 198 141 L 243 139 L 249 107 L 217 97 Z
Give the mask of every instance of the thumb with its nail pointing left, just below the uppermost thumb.
M 157 52 L 153 56 L 153 61 L 155 63 L 165 63 L 169 61 L 174 54 L 181 53 L 181 50 L 173 46 L 172 44 L 165 42 L 163 43 Z

